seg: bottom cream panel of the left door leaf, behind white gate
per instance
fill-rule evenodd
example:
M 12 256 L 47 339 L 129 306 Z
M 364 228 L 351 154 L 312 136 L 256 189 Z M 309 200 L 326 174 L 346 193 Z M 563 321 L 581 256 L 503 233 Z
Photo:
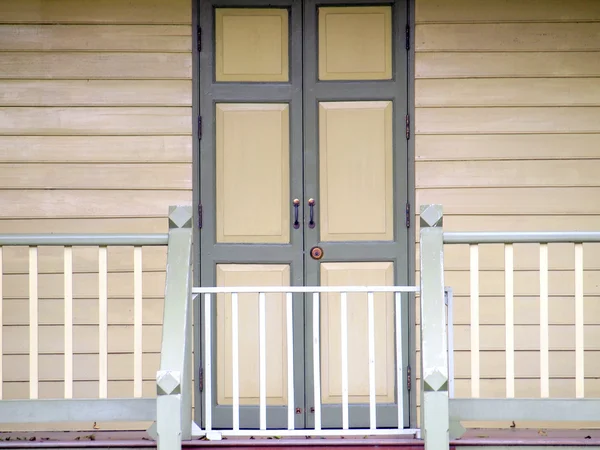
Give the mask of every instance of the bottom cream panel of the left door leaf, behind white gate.
M 217 286 L 289 286 L 287 264 L 217 264 Z M 259 404 L 258 294 L 239 294 L 240 404 Z M 267 404 L 287 404 L 285 295 L 266 294 Z M 233 403 L 231 295 L 217 296 L 217 404 Z

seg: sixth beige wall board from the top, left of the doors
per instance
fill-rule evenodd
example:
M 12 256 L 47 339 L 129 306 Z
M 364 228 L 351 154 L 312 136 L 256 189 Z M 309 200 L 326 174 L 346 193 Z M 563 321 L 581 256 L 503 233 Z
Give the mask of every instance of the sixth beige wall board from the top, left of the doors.
M 192 137 L 0 136 L 0 163 L 34 161 L 70 164 L 167 162 L 189 164 L 192 162 Z M 88 171 L 88 174 L 91 175 L 91 172 Z

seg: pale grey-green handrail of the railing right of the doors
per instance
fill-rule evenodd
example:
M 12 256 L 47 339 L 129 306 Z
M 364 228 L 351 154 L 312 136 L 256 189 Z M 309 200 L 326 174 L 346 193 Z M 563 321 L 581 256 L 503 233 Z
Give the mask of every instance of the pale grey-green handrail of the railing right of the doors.
M 539 244 L 600 242 L 600 231 L 444 232 L 444 244 Z

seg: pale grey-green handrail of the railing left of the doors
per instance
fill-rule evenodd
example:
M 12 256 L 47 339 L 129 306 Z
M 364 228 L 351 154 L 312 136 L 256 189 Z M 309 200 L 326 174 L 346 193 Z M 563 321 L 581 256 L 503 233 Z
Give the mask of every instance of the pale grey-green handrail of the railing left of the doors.
M 154 234 L 0 234 L 0 246 L 152 246 L 167 245 L 167 233 Z

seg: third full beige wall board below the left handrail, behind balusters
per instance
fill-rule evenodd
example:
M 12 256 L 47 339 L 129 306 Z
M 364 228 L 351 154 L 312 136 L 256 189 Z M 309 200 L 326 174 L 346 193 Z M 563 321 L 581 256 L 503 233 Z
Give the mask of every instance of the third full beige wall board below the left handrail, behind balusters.
M 162 325 L 163 298 L 142 299 L 142 323 Z M 63 299 L 42 299 L 38 302 L 40 325 L 63 325 L 65 322 Z M 29 325 L 29 300 L 3 299 L 2 316 L 4 326 Z M 73 324 L 98 325 L 98 300 L 73 299 Z M 133 324 L 133 297 L 108 299 L 108 323 L 111 325 Z

